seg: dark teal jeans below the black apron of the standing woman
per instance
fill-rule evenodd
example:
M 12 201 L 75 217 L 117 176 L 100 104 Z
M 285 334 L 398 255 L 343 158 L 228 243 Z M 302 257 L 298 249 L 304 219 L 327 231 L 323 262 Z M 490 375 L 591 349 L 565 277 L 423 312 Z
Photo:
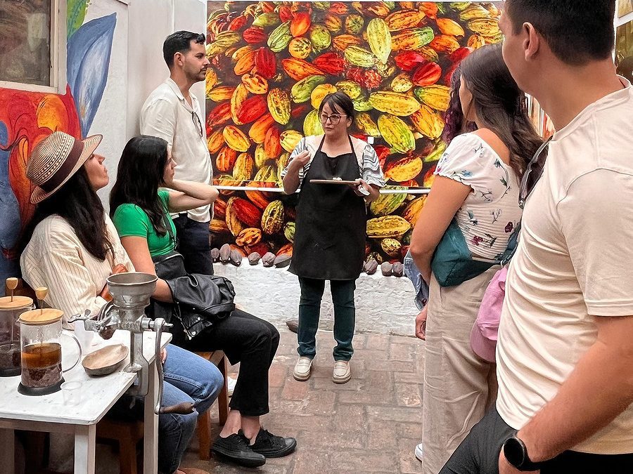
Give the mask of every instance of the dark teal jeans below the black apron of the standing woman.
M 325 289 L 324 279 L 299 277 L 301 299 L 299 302 L 299 329 L 297 352 L 302 357 L 316 355 L 316 330 L 319 329 L 321 298 Z M 354 354 L 352 338 L 356 325 L 354 290 L 356 280 L 330 280 L 332 303 L 334 303 L 334 360 L 350 360 Z

